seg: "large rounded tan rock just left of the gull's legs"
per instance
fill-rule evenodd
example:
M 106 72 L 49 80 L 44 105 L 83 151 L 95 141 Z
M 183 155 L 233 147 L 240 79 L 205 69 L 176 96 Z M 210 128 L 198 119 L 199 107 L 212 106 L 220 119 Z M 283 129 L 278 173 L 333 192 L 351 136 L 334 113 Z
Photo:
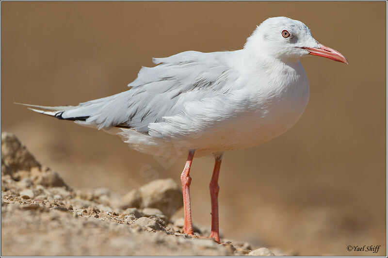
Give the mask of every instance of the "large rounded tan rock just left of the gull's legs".
M 183 206 L 182 190 L 171 178 L 151 181 L 139 191 L 142 198 L 140 208 L 156 208 L 171 217 Z

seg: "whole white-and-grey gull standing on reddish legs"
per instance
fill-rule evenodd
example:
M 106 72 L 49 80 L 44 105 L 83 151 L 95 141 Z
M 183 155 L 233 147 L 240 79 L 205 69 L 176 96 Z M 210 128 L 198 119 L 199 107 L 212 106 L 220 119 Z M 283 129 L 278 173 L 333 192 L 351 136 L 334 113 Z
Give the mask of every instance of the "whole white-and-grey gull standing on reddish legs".
M 291 128 L 304 112 L 309 83 L 300 58 L 322 56 L 348 64 L 319 44 L 307 26 L 287 17 L 268 18 L 236 51 L 186 51 L 154 58 L 129 90 L 78 106 L 27 105 L 38 113 L 74 120 L 120 135 L 138 151 L 187 155 L 181 174 L 184 232 L 195 236 L 189 176 L 194 157 L 214 155 L 210 181 L 211 233 L 219 242 L 218 175 L 224 151 L 265 143 Z

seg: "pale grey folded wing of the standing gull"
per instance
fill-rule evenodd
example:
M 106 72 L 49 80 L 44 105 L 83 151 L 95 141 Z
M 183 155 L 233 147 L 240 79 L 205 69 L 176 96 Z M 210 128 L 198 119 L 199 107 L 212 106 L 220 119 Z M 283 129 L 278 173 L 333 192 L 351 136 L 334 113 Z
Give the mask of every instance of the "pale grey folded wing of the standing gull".
M 81 103 L 58 112 L 62 119 L 83 120 L 98 129 L 127 126 L 148 132 L 150 123 L 178 114 L 185 103 L 226 94 L 238 77 L 225 62 L 229 52 L 182 52 L 154 58 L 155 67 L 142 67 L 128 91 Z M 82 119 L 77 119 L 82 118 Z

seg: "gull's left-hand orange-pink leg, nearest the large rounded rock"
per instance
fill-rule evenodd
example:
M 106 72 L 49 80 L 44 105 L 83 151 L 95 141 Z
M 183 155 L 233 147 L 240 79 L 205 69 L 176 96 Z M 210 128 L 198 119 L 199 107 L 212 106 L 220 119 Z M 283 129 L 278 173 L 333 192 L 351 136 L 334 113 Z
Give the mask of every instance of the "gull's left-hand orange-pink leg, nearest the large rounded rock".
M 190 183 L 191 177 L 190 167 L 194 157 L 194 150 L 189 151 L 189 156 L 187 157 L 185 168 L 183 169 L 182 174 L 180 175 L 180 181 L 182 182 L 182 192 L 183 192 L 183 209 L 185 215 L 185 224 L 183 227 L 183 232 L 189 236 L 195 236 L 193 231 L 193 224 L 191 220 L 191 206 L 190 206 Z

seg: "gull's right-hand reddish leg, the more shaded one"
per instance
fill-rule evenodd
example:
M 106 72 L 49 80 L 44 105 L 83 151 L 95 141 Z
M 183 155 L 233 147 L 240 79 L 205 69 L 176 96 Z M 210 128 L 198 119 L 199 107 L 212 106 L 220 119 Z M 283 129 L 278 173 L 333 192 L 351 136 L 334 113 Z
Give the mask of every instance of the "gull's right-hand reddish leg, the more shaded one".
M 217 242 L 220 242 L 220 230 L 218 227 L 218 192 L 220 187 L 218 186 L 218 176 L 220 174 L 221 161 L 224 152 L 215 153 L 215 163 L 213 175 L 211 176 L 209 188 L 210 188 L 210 198 L 211 198 L 211 232 L 210 238 L 214 239 Z

